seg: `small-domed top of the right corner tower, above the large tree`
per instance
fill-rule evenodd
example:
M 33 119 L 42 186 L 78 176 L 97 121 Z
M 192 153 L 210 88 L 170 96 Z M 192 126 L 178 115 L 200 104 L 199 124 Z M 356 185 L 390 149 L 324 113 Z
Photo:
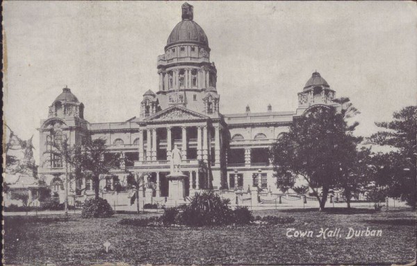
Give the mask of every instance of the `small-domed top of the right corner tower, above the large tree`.
M 327 105 L 337 107 L 333 99 L 336 92 L 330 89 L 327 81 L 320 76 L 320 73 L 314 72 L 311 78 L 307 80 L 302 92 L 298 93 L 297 115 L 304 113 L 306 109 L 313 105 Z

